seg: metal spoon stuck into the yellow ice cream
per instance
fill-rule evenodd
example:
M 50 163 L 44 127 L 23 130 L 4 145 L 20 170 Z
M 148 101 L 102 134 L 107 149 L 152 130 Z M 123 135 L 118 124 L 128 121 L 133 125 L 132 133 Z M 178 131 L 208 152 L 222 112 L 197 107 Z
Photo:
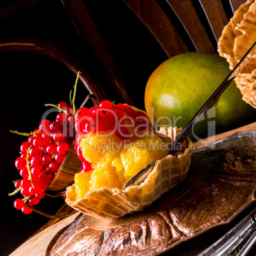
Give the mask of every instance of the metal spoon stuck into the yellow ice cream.
M 225 92 L 227 87 L 232 83 L 234 78 L 241 72 L 243 68 L 245 68 L 245 65 L 249 62 L 249 60 L 253 57 L 253 55 L 256 53 L 256 41 L 253 43 L 252 47 L 248 52 L 246 52 L 245 56 L 238 62 L 236 67 L 229 73 L 229 75 L 225 78 L 225 80 L 220 84 L 220 86 L 213 92 L 211 97 L 204 103 L 202 108 L 197 112 L 197 114 L 188 122 L 187 126 L 183 131 L 180 133 L 178 138 L 174 141 L 173 145 L 171 146 L 171 150 L 169 150 L 169 154 L 174 154 L 177 152 L 185 138 L 192 132 L 194 127 L 199 123 L 201 118 L 204 117 L 206 112 L 210 110 L 210 108 L 213 106 L 213 104 L 216 103 L 217 99 L 222 96 L 222 94 Z M 137 173 L 135 176 L 131 178 L 125 185 L 124 189 L 131 186 L 131 185 L 139 185 L 141 182 L 145 180 L 145 178 L 148 176 L 148 174 L 152 171 L 153 166 L 155 166 L 155 162 L 152 162 L 151 164 L 148 164 L 145 169 L 142 169 Z

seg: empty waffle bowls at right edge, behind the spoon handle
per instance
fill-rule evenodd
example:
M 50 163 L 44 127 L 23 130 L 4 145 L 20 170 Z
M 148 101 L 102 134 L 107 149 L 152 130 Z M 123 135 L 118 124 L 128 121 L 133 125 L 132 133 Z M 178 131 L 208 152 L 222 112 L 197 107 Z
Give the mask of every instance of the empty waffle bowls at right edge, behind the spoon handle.
M 218 53 L 233 69 L 256 41 L 256 1 L 241 4 L 218 40 Z M 256 55 L 235 78 L 243 100 L 256 108 Z

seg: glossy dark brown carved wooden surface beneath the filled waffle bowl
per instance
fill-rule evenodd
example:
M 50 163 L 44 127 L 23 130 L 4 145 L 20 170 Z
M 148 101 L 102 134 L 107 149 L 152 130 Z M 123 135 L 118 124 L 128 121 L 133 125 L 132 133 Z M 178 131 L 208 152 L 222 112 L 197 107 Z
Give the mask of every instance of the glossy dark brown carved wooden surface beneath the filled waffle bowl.
M 80 215 L 52 239 L 46 255 L 156 255 L 227 224 L 255 201 L 255 153 L 255 132 L 199 150 L 184 182 L 156 204 L 118 219 Z

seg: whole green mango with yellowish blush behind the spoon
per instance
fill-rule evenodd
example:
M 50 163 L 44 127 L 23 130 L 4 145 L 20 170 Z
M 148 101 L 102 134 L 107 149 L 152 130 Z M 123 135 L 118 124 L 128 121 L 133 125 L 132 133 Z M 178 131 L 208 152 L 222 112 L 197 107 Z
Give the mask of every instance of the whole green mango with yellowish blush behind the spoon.
M 163 125 L 184 128 L 230 71 L 227 61 L 214 53 L 182 53 L 160 64 L 145 89 L 145 109 L 155 129 Z M 255 114 L 232 82 L 190 138 L 240 127 L 253 122 Z

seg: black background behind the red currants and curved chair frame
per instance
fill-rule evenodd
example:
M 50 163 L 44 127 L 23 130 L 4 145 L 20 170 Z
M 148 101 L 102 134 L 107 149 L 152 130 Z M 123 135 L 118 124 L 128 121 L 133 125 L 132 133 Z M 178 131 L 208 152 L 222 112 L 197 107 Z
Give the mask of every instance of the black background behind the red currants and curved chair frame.
M 6 4 L 17 2 L 5 0 L 0 3 L 0 43 L 20 39 L 25 41 L 27 38 L 50 40 L 62 45 L 80 59 L 83 65 L 104 83 L 106 77 L 94 62 L 60 1 L 34 1 L 35 3 L 5 16 Z M 144 109 L 146 81 L 153 70 L 167 59 L 166 53 L 122 1 L 86 2 L 136 106 Z M 38 213 L 24 215 L 13 208 L 13 201 L 17 197 L 9 197 L 8 192 L 14 190 L 12 181 L 20 178 L 14 162 L 19 156 L 19 146 L 26 138 L 13 134 L 10 130 L 31 132 L 36 129 L 43 113 L 48 110 L 44 106 L 46 103 L 69 101 L 69 92 L 75 79 L 74 73 L 49 57 L 31 53 L 0 53 L 0 194 L 3 198 L 0 255 L 13 252 L 48 221 L 48 218 Z M 107 80 L 105 86 L 108 98 L 118 101 L 118 97 L 108 88 Z M 86 96 L 87 90 L 82 83 L 78 83 L 76 106 L 79 106 Z M 62 198 L 46 197 L 37 207 L 48 213 L 55 213 L 63 203 Z

